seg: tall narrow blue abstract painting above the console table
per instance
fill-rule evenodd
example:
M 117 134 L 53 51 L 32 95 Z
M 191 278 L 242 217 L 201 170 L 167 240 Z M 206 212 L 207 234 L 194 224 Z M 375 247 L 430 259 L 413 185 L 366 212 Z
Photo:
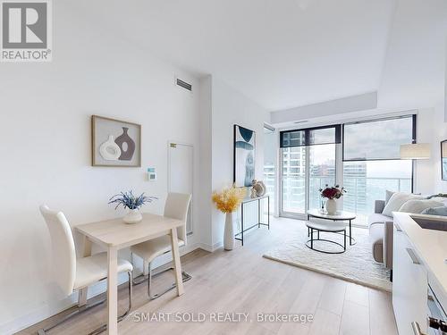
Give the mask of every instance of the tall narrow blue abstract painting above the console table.
M 256 133 L 234 125 L 233 182 L 237 187 L 250 187 L 255 179 Z

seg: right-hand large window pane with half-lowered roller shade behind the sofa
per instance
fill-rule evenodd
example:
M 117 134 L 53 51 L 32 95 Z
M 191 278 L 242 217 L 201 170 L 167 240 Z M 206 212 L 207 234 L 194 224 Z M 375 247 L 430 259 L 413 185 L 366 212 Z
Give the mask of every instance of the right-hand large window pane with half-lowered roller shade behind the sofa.
M 357 224 L 367 224 L 387 189 L 411 192 L 413 164 L 399 150 L 415 138 L 415 126 L 414 116 L 344 125 L 343 208 L 357 214 Z

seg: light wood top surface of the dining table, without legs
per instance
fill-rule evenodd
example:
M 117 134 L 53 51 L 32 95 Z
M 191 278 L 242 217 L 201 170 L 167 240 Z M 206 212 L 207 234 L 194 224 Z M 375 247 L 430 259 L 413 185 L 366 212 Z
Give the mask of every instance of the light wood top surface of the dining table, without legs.
M 148 239 L 166 235 L 169 230 L 180 227 L 183 222 L 161 215 L 144 213 L 143 221 L 128 224 L 122 219 L 91 222 L 74 229 L 105 247 L 130 247 Z

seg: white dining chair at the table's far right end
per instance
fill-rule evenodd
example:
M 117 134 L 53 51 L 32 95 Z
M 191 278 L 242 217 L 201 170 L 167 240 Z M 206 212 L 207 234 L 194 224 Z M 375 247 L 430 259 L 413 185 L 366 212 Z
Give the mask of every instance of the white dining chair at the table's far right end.
M 186 222 L 188 218 L 188 210 L 190 208 L 190 200 L 190 194 L 169 193 L 164 205 L 164 216 L 181 220 L 183 222 L 181 227 L 177 228 L 179 247 L 184 247 L 187 244 Z M 175 283 L 173 283 L 167 289 L 164 289 L 164 291 L 156 294 L 153 294 L 151 289 L 153 277 L 163 272 L 173 270 L 173 267 L 170 267 L 164 271 L 152 273 L 152 264 L 156 257 L 169 252 L 171 252 L 171 238 L 168 235 L 151 239 L 131 247 L 132 259 L 133 255 L 138 255 L 143 259 L 143 274 L 139 277 L 139 279 L 135 279 L 133 283 L 134 285 L 138 285 L 141 282 L 148 280 L 148 296 L 151 300 L 163 296 L 164 293 L 169 292 L 176 286 Z M 145 273 L 146 271 L 148 271 L 147 275 Z M 181 277 L 183 282 L 191 279 L 191 276 L 186 272 L 181 272 Z

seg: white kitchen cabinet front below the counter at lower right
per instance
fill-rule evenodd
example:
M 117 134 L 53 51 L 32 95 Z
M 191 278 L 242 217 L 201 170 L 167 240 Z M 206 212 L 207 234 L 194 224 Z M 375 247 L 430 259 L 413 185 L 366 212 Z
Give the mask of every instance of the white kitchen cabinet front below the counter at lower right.
M 413 334 L 411 322 L 426 333 L 427 271 L 407 235 L 394 221 L 392 250 L 392 307 L 401 335 Z

